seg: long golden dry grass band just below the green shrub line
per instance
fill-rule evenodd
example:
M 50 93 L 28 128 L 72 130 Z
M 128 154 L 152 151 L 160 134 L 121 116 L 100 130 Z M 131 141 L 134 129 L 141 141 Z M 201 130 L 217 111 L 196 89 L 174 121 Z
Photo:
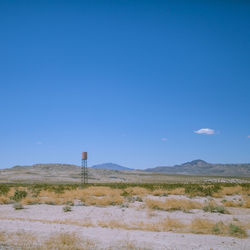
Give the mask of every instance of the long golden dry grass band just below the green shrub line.
M 202 186 L 203 188 L 208 188 L 208 186 Z M 195 190 L 198 188 L 194 186 Z M 212 188 L 212 186 L 211 186 Z M 11 202 L 10 197 L 13 197 L 17 188 L 11 187 L 7 194 L 0 196 L 0 204 L 7 204 Z M 18 187 L 18 190 L 23 190 L 27 192 L 27 197 L 22 199 L 22 204 L 31 205 L 31 204 L 54 204 L 54 205 L 63 205 L 68 203 L 73 203 L 74 200 L 82 200 L 86 202 L 86 205 L 112 205 L 112 204 L 121 204 L 122 200 L 126 196 L 137 196 L 142 198 L 146 195 L 155 195 L 155 196 L 167 196 L 167 195 L 185 195 L 185 191 L 188 195 L 192 193 L 192 190 L 186 190 L 184 187 L 176 187 L 174 189 L 165 189 L 158 188 L 151 190 L 144 187 L 127 187 L 122 188 L 112 188 L 107 186 L 90 186 L 87 188 L 75 188 L 75 189 L 42 189 L 35 190 L 27 187 Z M 197 191 L 198 190 L 198 191 Z M 201 195 L 202 192 L 197 189 L 196 195 Z M 241 186 L 232 186 L 232 187 L 221 187 L 217 192 L 213 192 L 214 197 L 224 197 L 225 195 L 236 195 L 242 194 L 246 195 L 249 189 L 243 188 Z M 40 191 L 37 193 L 37 191 Z M 191 193 L 190 193 L 191 192 Z M 200 193 L 199 193 L 200 192 Z M 121 198 L 119 198 L 121 197 Z M 98 199 L 100 200 L 98 200 Z M 103 198 L 103 200 L 102 200 Z M 114 203 L 110 200 L 114 198 Z M 247 202 L 249 204 L 249 202 Z M 249 205 L 246 205 L 249 207 Z

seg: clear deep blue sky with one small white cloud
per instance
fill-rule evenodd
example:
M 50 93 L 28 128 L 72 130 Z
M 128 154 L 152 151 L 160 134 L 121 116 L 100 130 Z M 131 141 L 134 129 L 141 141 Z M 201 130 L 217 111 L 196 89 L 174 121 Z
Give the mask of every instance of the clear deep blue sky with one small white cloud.
M 249 1 L 0 1 L 0 168 L 250 162 Z

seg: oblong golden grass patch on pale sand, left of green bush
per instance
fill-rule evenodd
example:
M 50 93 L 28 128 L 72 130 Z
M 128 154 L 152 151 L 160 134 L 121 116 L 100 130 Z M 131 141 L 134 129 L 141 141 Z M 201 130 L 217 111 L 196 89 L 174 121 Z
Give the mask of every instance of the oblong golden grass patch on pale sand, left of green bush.
M 197 201 L 186 199 L 166 199 L 166 201 L 146 200 L 146 205 L 151 209 L 159 209 L 164 211 L 181 210 L 187 212 L 191 209 L 200 209 L 202 204 Z

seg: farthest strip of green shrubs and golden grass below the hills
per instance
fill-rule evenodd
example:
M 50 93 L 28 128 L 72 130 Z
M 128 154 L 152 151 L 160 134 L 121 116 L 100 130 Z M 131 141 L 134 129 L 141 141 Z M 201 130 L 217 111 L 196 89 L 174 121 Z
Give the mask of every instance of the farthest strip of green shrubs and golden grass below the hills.
M 117 190 L 119 195 L 169 195 L 169 194 L 187 194 L 189 196 L 218 196 L 224 195 L 244 194 L 250 193 L 250 183 L 211 183 L 211 184 L 136 184 L 136 183 L 108 183 L 108 184 L 15 184 L 15 183 L 2 183 L 0 184 L 0 196 L 7 196 L 11 189 L 14 192 L 18 191 L 12 196 L 23 199 L 26 195 L 30 197 L 46 196 L 44 194 L 53 194 L 54 197 L 65 196 L 67 191 L 71 194 L 88 194 L 92 196 L 105 196 L 113 190 Z M 25 190 L 17 190 L 17 189 Z M 15 190 L 16 189 L 16 190 Z M 27 194 L 23 192 L 25 191 Z M 46 192 L 45 192 L 46 191 Z

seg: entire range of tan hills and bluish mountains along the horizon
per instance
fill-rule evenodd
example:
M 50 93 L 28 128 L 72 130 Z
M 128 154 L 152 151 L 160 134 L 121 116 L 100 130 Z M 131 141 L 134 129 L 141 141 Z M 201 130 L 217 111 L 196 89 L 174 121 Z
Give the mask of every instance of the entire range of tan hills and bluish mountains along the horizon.
M 0 182 L 77 182 L 79 181 L 80 173 L 80 166 L 70 164 L 49 163 L 34 164 L 31 166 L 14 166 L 8 169 L 0 169 Z M 88 173 L 92 182 L 160 183 L 175 181 L 176 178 L 181 178 L 185 181 L 194 176 L 197 176 L 197 178 L 207 178 L 207 176 L 213 178 L 250 177 L 250 164 L 213 164 L 203 160 L 194 160 L 180 165 L 158 166 L 155 168 L 136 170 L 114 163 L 104 163 L 88 168 Z

